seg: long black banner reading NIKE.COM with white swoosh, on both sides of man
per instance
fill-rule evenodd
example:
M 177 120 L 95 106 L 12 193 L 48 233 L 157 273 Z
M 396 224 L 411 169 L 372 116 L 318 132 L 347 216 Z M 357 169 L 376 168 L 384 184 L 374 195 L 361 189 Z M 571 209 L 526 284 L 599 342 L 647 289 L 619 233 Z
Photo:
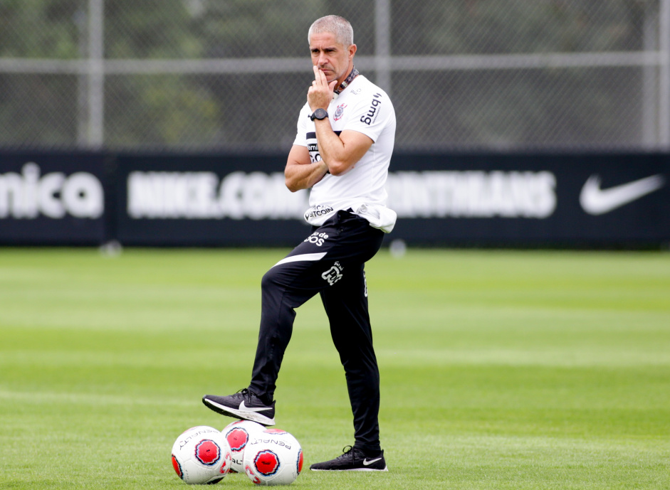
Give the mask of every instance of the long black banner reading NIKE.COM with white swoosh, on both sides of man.
M 286 156 L 119 156 L 117 237 L 137 245 L 295 245 L 308 193 Z M 642 246 L 670 240 L 661 154 L 396 154 L 387 240 Z

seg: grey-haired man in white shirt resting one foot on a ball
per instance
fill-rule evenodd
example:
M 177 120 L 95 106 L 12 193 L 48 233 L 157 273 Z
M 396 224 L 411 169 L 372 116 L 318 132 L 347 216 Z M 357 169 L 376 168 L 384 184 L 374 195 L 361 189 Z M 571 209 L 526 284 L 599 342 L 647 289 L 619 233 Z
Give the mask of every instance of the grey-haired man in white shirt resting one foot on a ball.
M 224 415 L 273 425 L 275 382 L 295 308 L 320 293 L 345 368 L 355 443 L 340 457 L 311 469 L 386 471 L 364 264 L 396 220 L 384 206 L 395 113 L 387 94 L 354 68 L 357 48 L 348 21 L 319 18 L 308 39 L 315 80 L 298 117 L 285 176 L 290 191 L 311 188 L 305 220 L 313 233 L 263 276 L 250 385 L 234 395 L 205 395 L 203 403 Z

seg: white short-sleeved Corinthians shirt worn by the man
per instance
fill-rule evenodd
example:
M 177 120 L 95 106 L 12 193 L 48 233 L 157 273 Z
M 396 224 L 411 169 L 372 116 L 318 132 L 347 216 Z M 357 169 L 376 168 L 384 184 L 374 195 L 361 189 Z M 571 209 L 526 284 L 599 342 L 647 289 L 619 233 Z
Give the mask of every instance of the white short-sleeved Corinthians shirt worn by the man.
M 305 103 L 298 117 L 298 134 L 293 144 L 307 147 L 310 159 L 320 161 L 312 111 Z M 373 143 L 362 158 L 342 176 L 326 174 L 310 191 L 310 209 L 305 220 L 323 225 L 330 215 L 351 208 L 370 225 L 389 233 L 396 220 L 386 207 L 384 188 L 395 139 L 395 111 L 384 90 L 358 75 L 328 106 L 328 119 L 335 134 L 346 130 L 367 135 Z

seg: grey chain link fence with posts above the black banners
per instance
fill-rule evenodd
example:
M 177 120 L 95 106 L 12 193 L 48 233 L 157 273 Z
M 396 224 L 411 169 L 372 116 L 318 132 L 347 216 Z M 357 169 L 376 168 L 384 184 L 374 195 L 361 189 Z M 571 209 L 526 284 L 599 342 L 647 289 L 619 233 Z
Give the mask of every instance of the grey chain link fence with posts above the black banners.
M 399 150 L 670 148 L 670 0 L 0 0 L 0 145 L 288 151 L 326 14 Z

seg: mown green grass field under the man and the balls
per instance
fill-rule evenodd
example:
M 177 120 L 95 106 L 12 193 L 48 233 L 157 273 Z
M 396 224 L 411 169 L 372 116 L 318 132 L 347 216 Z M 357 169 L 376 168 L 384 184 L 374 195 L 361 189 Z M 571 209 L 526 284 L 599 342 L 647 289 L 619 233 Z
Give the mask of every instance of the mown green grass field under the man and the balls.
M 172 442 L 232 421 L 200 399 L 248 384 L 284 252 L 0 249 L 0 488 L 186 488 Z M 382 250 L 367 281 L 389 472 L 308 469 L 353 442 L 315 298 L 276 393 L 293 487 L 670 489 L 670 254 Z

